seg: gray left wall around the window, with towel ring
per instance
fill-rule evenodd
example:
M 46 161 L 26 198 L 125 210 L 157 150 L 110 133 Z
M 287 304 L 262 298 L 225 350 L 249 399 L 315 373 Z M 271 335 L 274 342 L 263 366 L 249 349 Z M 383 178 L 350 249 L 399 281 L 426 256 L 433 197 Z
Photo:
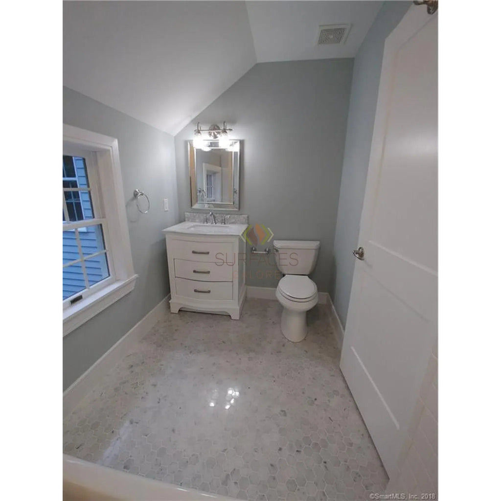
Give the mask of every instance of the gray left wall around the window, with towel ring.
M 63 87 L 63 122 L 118 139 L 124 204 L 134 188 L 151 200 L 147 214 L 128 204 L 134 291 L 63 338 L 63 387 L 67 388 L 169 292 L 161 230 L 177 221 L 174 138 Z M 164 212 L 163 198 L 170 211 Z

